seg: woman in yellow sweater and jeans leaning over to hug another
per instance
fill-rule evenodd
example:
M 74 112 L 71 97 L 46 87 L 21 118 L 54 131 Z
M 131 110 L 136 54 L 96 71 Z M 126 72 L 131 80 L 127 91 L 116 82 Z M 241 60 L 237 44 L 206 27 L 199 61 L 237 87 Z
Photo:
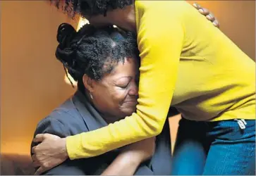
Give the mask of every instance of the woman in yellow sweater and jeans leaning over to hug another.
M 202 174 L 255 173 L 252 59 L 185 1 L 79 2 L 71 1 L 74 10 L 92 25 L 117 25 L 137 32 L 141 58 L 137 111 L 107 127 L 63 139 L 37 135 L 35 141 L 42 143 L 32 152 L 35 163 L 41 164 L 38 172 L 68 157 L 98 156 L 154 137 L 173 106 L 183 116 L 175 172 L 179 174 L 178 163 L 188 149 L 183 144 L 198 141 L 206 153 Z

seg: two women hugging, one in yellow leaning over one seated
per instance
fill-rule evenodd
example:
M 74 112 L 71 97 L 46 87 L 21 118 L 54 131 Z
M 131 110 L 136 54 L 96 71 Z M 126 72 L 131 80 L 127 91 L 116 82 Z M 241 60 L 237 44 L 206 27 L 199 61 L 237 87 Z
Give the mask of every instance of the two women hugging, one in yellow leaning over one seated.
M 59 26 L 56 58 L 78 90 L 37 125 L 35 174 L 255 175 L 255 62 L 211 13 L 186 1 L 63 6 L 90 25 Z M 170 113 L 182 116 L 173 156 Z

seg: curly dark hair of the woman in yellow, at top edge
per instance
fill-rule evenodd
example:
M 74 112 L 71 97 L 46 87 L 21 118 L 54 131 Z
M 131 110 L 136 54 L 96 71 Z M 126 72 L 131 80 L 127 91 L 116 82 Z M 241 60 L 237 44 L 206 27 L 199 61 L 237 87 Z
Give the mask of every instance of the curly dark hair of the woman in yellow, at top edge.
M 106 11 L 116 8 L 130 6 L 135 0 L 50 0 L 57 8 L 71 17 L 80 14 L 86 15 L 106 15 Z

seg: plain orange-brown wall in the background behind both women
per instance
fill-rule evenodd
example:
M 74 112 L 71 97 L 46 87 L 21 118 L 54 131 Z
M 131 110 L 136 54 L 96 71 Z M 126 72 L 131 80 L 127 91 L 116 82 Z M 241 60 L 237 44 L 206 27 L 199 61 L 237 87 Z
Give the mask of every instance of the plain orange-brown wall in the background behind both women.
M 255 1 L 199 2 L 255 59 Z M 56 29 L 63 22 L 66 15 L 44 1 L 1 1 L 2 153 L 29 153 L 37 122 L 73 92 L 54 57 Z M 171 118 L 173 139 L 177 120 Z

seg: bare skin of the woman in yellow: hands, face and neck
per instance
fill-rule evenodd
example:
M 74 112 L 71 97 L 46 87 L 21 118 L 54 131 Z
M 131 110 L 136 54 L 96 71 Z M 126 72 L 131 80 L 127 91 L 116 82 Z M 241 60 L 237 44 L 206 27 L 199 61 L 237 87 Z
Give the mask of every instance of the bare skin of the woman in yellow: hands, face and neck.
M 193 6 L 197 8 L 202 15 L 205 15 L 208 20 L 212 21 L 213 25 L 219 27 L 219 22 L 206 8 L 202 8 L 198 4 L 193 4 Z M 123 30 L 136 32 L 134 5 L 126 6 L 123 9 L 118 8 L 112 11 L 107 11 L 106 16 L 93 15 L 85 16 L 85 18 L 89 20 L 90 24 L 95 25 L 96 27 L 116 25 Z M 95 102 L 95 104 L 97 103 Z M 54 168 L 54 166 L 63 163 L 63 161 L 66 161 L 68 158 L 66 138 L 56 139 L 56 137 L 51 134 L 37 134 L 34 142 L 42 142 L 38 146 L 32 148 L 32 153 L 35 153 L 32 157 L 33 161 L 37 161 L 39 165 L 41 165 L 36 172 L 37 174 Z M 54 146 L 54 149 L 49 149 L 50 146 Z

